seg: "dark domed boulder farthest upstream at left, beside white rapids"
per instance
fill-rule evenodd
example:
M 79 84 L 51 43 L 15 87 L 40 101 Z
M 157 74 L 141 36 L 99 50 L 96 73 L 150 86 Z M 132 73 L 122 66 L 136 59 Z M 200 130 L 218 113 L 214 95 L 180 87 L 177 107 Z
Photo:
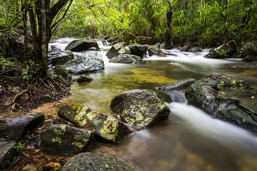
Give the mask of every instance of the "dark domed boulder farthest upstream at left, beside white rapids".
M 81 38 L 70 42 L 66 46 L 65 50 L 70 50 L 72 52 L 81 52 L 81 51 L 88 50 L 88 48 L 90 47 L 96 47 L 97 49 L 100 49 L 97 42 L 94 39 L 85 37 L 85 38 Z

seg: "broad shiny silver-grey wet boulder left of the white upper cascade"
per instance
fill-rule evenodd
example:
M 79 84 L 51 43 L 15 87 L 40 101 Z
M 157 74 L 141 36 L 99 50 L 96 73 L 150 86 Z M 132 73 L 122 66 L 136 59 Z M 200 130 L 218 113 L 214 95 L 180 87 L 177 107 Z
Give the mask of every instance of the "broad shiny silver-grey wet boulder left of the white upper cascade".
M 96 51 L 87 51 L 62 65 L 69 74 L 86 74 L 104 69 L 104 61 Z

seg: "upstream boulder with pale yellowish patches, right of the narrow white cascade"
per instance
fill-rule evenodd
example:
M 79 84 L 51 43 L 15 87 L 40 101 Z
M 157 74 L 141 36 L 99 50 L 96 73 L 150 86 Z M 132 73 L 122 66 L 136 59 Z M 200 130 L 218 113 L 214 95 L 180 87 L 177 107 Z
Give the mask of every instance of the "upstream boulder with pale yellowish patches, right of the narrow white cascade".
M 107 52 L 106 56 L 108 57 L 108 59 L 111 59 L 120 54 L 130 54 L 130 53 L 131 51 L 127 45 L 123 43 L 117 43 L 111 47 L 111 49 Z

